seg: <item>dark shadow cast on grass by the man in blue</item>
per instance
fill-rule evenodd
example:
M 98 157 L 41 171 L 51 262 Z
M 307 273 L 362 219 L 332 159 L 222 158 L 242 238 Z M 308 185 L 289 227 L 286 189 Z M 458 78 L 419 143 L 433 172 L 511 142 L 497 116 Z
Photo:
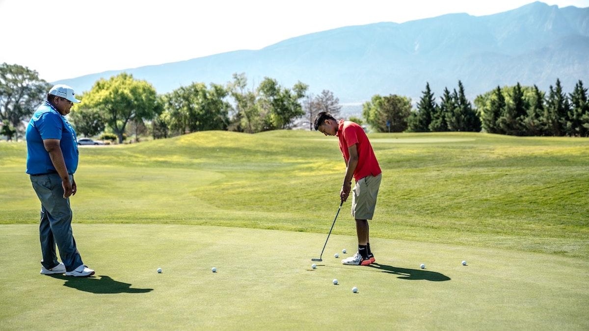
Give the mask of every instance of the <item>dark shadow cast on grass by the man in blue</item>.
M 64 276 L 63 274 L 51 274 L 49 276 L 65 280 L 64 286 L 96 294 L 147 293 L 153 291 L 153 289 L 131 289 L 131 284 L 117 282 L 108 276 L 98 276 L 100 279 L 96 277 Z

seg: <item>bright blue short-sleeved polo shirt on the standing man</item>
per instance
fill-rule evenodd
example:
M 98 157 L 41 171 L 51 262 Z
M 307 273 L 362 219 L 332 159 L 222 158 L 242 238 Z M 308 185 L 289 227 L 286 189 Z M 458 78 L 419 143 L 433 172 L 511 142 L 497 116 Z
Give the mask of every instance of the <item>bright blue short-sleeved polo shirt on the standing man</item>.
M 44 139 L 58 139 L 69 174 L 78 168 L 78 141 L 74 128 L 48 101 L 37 108 L 27 126 L 27 174 L 57 173 Z

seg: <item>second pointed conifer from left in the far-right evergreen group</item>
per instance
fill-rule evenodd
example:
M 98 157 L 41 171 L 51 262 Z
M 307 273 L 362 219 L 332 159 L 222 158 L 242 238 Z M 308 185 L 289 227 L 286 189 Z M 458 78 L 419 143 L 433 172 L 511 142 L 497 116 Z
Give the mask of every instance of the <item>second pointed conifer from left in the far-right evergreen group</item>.
M 501 128 L 502 133 L 509 135 L 524 135 L 525 126 L 524 121 L 527 115 L 526 102 L 524 100 L 524 91 L 522 91 L 519 82 L 512 89 L 509 95 L 509 102 L 505 102 L 505 108 L 497 124 Z

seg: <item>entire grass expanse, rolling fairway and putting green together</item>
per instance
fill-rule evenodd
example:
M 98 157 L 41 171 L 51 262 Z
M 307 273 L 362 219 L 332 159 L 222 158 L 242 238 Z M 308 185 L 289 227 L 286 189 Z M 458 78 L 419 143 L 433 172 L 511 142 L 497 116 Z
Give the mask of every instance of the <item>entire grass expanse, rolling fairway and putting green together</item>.
M 589 139 L 369 137 L 383 169 L 370 223 L 380 269 L 333 257 L 355 252 L 346 203 L 325 265 L 308 270 L 339 205 L 334 137 L 212 131 L 80 148 L 72 208 L 97 270 L 87 280 L 38 274 L 26 146 L 0 144 L 2 325 L 589 328 Z M 52 309 L 70 323 L 47 326 Z

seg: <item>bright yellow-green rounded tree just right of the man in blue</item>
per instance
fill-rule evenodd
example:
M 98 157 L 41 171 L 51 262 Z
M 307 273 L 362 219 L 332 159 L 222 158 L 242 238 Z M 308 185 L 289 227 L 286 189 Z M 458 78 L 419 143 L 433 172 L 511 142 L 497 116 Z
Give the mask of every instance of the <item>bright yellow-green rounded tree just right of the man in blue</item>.
M 135 80 L 133 75 L 123 72 L 109 80 L 96 81 L 84 95 L 84 107 L 102 112 L 121 144 L 129 121 L 154 117 L 157 94 L 147 81 Z

